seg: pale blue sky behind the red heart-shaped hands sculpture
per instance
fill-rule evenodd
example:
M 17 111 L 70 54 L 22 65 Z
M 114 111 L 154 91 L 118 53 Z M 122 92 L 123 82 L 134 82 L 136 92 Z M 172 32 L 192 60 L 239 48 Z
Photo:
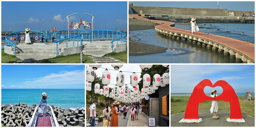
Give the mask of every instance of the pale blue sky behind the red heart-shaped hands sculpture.
M 171 93 L 192 93 L 194 87 L 204 79 L 212 84 L 224 80 L 236 93 L 255 91 L 255 65 L 171 65 Z M 222 92 L 221 87 L 206 86 L 205 93 L 212 89 Z

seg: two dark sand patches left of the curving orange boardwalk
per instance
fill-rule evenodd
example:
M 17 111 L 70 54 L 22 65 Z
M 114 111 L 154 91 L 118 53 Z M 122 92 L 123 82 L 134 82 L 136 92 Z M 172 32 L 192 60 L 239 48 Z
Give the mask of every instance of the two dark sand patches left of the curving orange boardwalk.
M 129 18 L 129 31 L 155 29 L 155 25 L 150 21 Z M 166 50 L 167 48 L 164 47 L 138 43 L 129 37 L 129 56 L 164 53 Z

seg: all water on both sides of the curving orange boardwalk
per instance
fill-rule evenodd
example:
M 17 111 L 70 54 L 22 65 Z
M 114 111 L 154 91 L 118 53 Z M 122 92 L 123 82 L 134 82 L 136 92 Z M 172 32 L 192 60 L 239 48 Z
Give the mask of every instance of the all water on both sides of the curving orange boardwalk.
M 254 24 L 205 24 L 198 24 L 201 26 L 200 32 L 240 39 L 254 44 Z M 188 23 L 175 23 L 175 27 L 191 30 Z M 166 37 L 155 29 L 130 31 L 129 37 L 139 43 L 169 48 L 165 53 L 129 56 L 129 63 L 243 63 L 241 59 L 236 59 L 218 50 L 212 50 L 212 48 L 187 40 Z

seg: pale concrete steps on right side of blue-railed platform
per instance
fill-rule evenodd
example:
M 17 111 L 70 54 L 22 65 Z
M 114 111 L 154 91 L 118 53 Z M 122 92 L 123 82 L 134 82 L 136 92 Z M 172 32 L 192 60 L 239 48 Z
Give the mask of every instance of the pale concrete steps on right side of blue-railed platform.
M 99 44 L 99 45 L 97 45 Z M 83 54 L 102 57 L 107 53 L 114 52 L 116 45 L 113 44 L 113 50 L 110 41 L 95 41 L 84 45 Z

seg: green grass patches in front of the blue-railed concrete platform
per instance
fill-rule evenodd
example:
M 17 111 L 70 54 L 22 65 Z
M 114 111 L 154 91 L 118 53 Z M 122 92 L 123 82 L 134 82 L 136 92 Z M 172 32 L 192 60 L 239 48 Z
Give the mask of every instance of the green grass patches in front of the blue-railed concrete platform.
M 17 58 L 15 55 L 9 55 L 4 53 L 4 50 L 2 50 L 1 55 L 2 63 L 12 63 L 16 61 L 22 61 L 20 58 Z M 123 61 L 127 63 L 127 50 L 124 52 L 112 52 L 106 54 L 104 57 L 112 57 L 117 60 Z M 80 63 L 80 54 L 72 54 L 67 56 L 57 56 L 54 58 L 39 60 L 40 63 Z M 83 63 L 95 63 L 90 55 L 83 55 Z

